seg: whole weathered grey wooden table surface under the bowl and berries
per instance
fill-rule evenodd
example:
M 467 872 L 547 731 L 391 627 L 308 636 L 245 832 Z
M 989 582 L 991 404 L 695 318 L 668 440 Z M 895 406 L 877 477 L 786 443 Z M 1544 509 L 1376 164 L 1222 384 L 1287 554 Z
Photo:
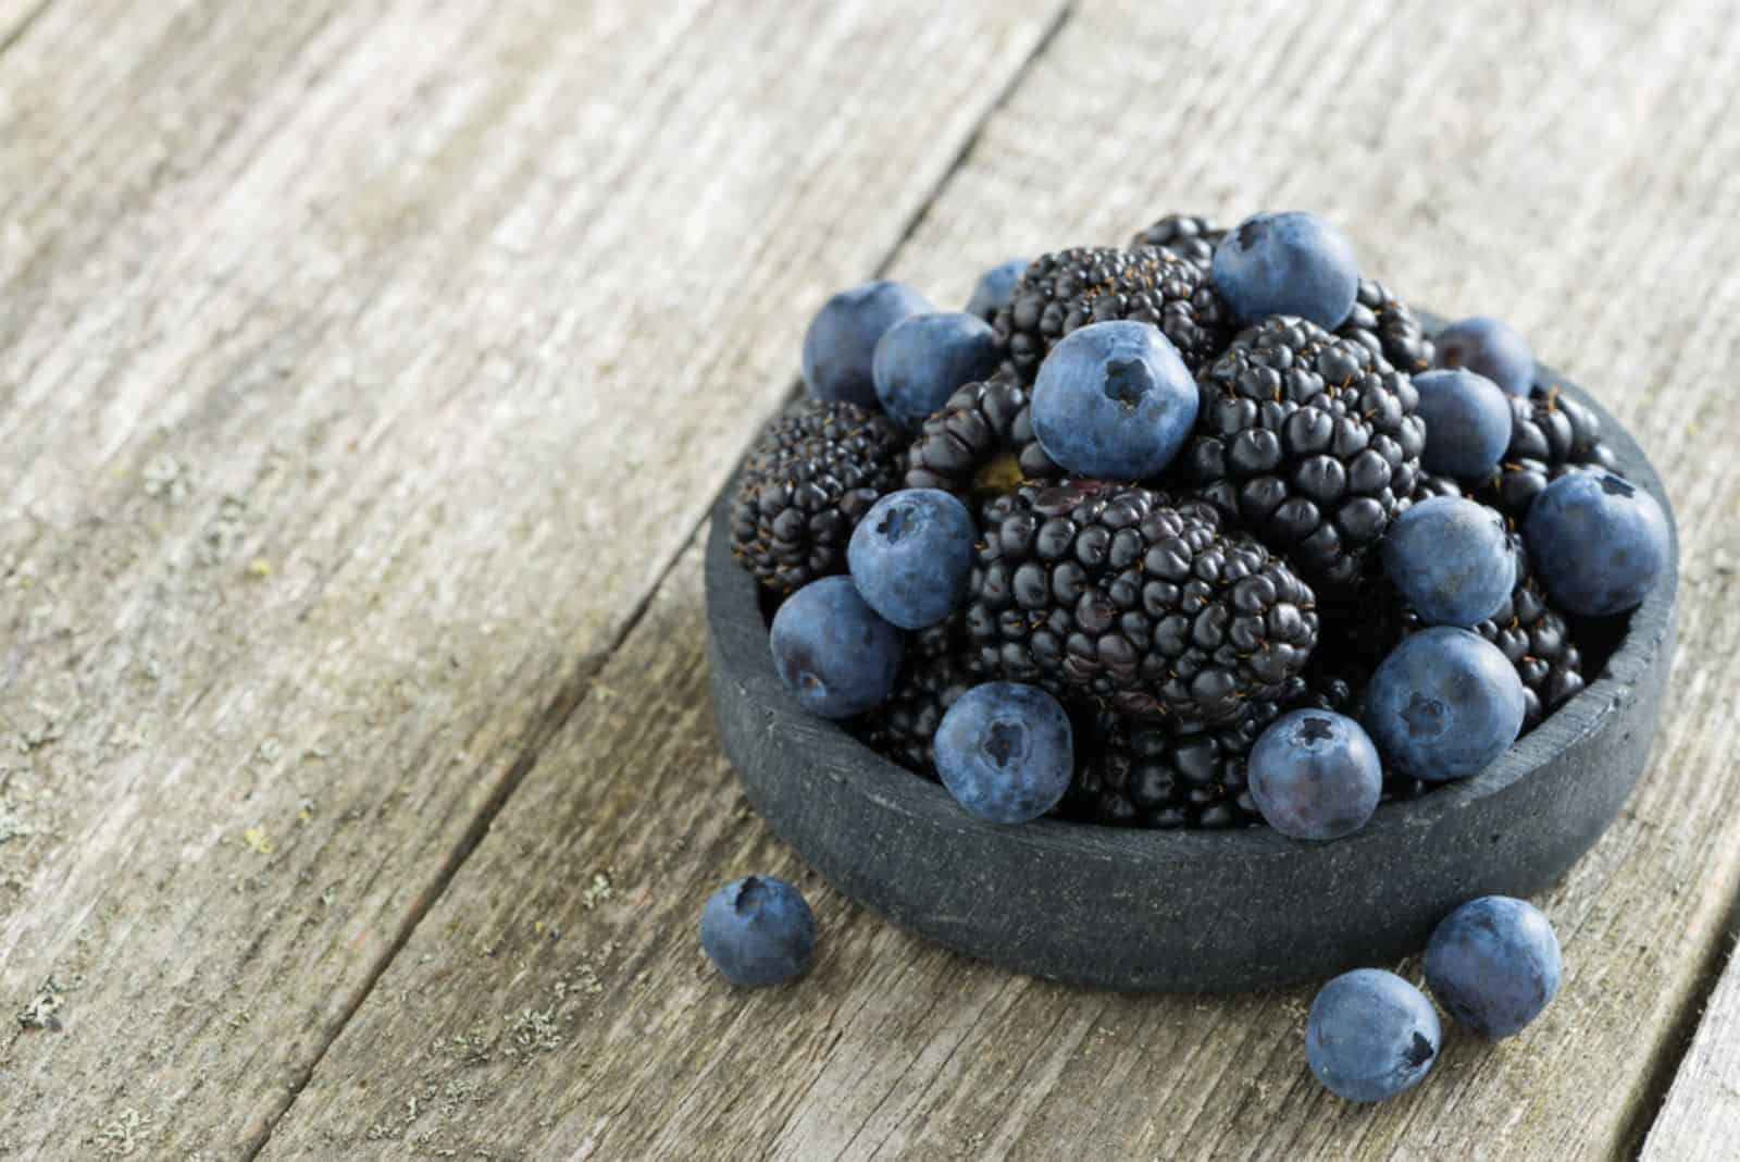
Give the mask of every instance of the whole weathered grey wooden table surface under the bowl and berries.
M 0 0 L 0 1157 L 1737 1157 L 1740 12 L 1547 7 Z M 1517 324 L 1686 543 L 1557 1004 L 1380 1108 L 1308 990 L 867 915 L 706 710 L 701 524 L 830 290 L 1258 207 Z M 802 986 L 696 946 L 752 870 Z

